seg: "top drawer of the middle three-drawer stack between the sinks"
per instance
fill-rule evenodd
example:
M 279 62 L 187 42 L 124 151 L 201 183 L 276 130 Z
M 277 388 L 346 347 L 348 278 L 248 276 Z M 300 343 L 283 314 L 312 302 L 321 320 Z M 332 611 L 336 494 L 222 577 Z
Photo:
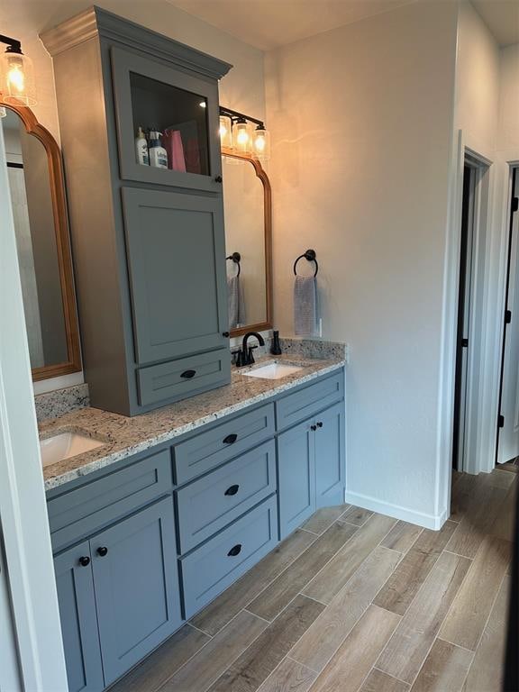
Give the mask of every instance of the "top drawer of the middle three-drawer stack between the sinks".
M 178 485 L 231 460 L 274 434 L 274 405 L 268 404 L 218 425 L 175 447 Z

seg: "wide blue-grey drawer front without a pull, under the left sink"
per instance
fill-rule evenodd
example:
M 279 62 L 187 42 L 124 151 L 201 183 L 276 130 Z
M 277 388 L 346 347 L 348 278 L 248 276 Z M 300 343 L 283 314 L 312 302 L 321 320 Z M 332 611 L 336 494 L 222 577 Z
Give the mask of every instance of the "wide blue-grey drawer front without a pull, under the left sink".
M 172 486 L 171 451 L 96 478 L 47 503 L 52 548 L 60 548 L 130 514 Z

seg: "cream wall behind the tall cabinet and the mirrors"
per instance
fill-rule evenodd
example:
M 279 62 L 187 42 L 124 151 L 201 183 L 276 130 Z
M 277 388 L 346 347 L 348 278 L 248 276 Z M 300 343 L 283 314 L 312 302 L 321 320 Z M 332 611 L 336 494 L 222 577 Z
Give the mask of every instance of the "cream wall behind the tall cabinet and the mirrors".
M 92 0 L 3 0 L 0 5 L 0 33 L 19 38 L 23 51 L 34 63 L 38 105 L 33 111 L 58 141 L 59 120 L 52 60 L 38 34 L 90 5 Z M 96 0 L 96 5 L 232 63 L 232 70 L 223 77 L 220 85 L 220 103 L 253 117 L 265 117 L 263 53 L 260 50 L 165 0 Z M 82 381 L 83 378 L 75 373 L 59 379 L 41 380 L 34 384 L 34 390 L 41 393 Z

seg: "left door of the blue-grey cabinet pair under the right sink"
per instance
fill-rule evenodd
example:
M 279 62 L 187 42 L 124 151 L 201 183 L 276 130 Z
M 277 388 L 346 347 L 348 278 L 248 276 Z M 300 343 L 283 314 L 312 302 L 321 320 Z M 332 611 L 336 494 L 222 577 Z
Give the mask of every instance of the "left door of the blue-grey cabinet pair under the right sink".
M 278 437 L 280 539 L 292 533 L 315 511 L 314 432 L 311 421 Z

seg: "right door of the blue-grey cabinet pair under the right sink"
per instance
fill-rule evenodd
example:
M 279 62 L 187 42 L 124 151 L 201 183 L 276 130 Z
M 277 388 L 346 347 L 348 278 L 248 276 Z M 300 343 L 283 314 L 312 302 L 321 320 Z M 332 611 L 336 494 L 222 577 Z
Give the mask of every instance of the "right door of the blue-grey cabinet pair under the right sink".
M 315 486 L 317 507 L 344 502 L 344 402 L 315 416 Z

